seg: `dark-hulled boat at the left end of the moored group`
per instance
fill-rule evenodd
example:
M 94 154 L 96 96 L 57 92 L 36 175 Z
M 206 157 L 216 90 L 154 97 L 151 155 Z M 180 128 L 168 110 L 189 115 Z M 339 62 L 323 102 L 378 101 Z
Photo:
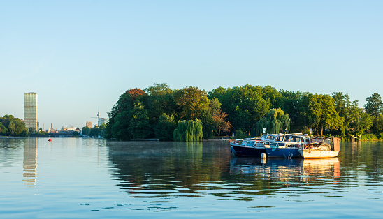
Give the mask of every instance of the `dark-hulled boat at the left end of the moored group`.
M 236 139 L 230 142 L 230 151 L 235 156 L 260 157 L 262 153 L 266 154 L 263 144 L 269 144 L 282 135 L 266 134 L 261 137 L 250 137 L 245 139 Z

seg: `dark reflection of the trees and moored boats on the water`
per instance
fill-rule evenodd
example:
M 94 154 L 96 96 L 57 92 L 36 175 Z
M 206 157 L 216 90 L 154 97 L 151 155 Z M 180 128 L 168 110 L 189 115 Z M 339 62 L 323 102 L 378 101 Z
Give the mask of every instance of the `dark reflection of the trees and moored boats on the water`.
M 352 186 L 347 174 L 359 174 L 360 167 L 353 165 L 361 163 L 369 169 L 366 180 L 380 183 L 382 147 L 354 147 L 360 145 L 342 144 L 340 158 L 263 161 L 232 157 L 226 142 L 108 142 L 118 185 L 134 197 L 215 195 L 242 200 L 254 197 L 238 194 L 272 195 L 291 187 L 296 193 L 347 188 Z

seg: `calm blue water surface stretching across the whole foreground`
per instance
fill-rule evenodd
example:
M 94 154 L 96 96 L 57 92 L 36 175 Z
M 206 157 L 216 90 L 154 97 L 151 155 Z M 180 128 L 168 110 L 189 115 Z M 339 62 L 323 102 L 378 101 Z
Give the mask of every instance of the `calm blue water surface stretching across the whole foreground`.
M 383 142 L 236 158 L 228 142 L 0 138 L 0 218 L 382 218 Z

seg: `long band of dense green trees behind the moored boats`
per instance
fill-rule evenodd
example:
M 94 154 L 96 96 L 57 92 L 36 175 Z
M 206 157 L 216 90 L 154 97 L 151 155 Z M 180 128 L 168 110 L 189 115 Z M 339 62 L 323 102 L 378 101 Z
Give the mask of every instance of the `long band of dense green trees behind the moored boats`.
M 108 113 L 108 138 L 161 140 L 212 139 L 263 133 L 302 132 L 315 135 L 383 137 L 383 103 L 379 94 L 358 100 L 342 92 L 331 95 L 284 91 L 273 86 L 218 87 L 207 92 L 167 84 L 122 93 Z

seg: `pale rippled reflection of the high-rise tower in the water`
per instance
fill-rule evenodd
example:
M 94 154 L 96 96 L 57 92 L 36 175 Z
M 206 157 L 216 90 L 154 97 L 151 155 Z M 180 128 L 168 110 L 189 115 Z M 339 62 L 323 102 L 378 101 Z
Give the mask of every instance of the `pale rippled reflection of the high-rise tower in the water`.
M 37 168 L 37 138 L 28 138 L 24 144 L 24 160 L 22 165 L 24 172 L 22 181 L 25 185 L 36 185 L 36 168 Z

